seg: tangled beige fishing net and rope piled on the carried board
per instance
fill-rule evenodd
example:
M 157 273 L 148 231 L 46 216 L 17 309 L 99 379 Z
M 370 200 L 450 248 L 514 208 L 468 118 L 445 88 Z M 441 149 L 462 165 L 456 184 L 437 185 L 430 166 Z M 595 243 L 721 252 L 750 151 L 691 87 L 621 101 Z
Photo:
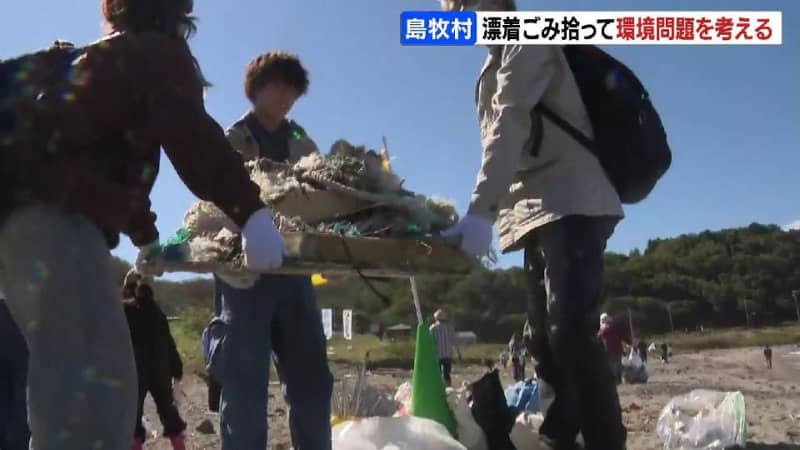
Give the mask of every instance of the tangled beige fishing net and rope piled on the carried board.
M 385 152 L 344 140 L 327 155 L 312 154 L 296 164 L 260 159 L 246 167 L 281 232 L 430 236 L 458 220 L 452 204 L 406 190 L 391 171 Z M 197 202 L 167 242 L 164 257 L 167 262 L 220 263 L 240 269 L 239 229 L 214 204 Z

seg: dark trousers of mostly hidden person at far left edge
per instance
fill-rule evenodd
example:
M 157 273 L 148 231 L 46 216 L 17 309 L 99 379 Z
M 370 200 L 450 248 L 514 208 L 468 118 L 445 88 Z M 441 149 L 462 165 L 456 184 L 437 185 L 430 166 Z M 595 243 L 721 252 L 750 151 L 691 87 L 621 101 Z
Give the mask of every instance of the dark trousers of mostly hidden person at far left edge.
M 28 348 L 0 292 L 0 449 L 28 450 Z

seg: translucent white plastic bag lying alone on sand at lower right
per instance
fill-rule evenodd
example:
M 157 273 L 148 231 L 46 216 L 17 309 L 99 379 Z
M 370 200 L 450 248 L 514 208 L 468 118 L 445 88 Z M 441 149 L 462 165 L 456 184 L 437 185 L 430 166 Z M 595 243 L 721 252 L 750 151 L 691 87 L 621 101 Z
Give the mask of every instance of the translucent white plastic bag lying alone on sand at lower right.
M 744 448 L 744 396 L 698 389 L 675 397 L 661 411 L 656 431 L 665 450 Z

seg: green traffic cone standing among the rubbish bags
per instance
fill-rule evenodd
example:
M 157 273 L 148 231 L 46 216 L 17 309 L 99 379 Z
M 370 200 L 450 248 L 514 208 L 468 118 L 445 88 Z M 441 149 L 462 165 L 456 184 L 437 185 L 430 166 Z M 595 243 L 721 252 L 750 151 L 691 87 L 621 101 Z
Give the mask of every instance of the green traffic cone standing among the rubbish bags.
M 436 344 L 430 329 L 417 326 L 417 347 L 414 352 L 414 373 L 411 377 L 411 415 L 434 420 L 456 436 L 456 419 L 447 404 Z

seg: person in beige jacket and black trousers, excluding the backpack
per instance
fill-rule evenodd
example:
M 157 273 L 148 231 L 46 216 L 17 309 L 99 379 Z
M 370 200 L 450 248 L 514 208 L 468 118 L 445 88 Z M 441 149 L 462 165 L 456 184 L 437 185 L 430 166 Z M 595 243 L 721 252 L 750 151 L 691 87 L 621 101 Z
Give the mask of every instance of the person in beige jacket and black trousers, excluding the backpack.
M 443 0 L 458 10 L 514 10 L 513 0 Z M 540 433 L 556 449 L 621 450 L 626 431 L 602 344 L 596 339 L 603 253 L 623 211 L 598 159 L 532 114 L 543 102 L 585 135 L 593 130 L 558 46 L 490 46 L 478 78 L 483 159 L 467 214 L 444 235 L 464 251 L 524 250 L 530 281 L 528 339 L 540 379 L 555 390 Z M 544 279 L 544 287 L 542 286 Z

